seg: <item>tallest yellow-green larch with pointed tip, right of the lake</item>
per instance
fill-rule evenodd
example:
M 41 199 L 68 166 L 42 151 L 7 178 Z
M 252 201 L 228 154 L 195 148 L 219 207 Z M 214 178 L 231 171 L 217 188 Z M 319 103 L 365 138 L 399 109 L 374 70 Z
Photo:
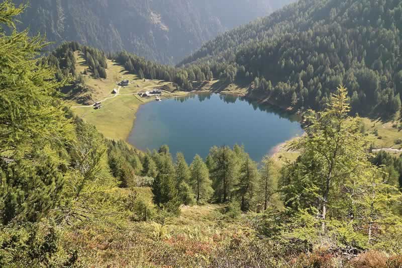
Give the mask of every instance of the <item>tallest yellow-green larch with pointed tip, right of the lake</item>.
M 323 233 L 327 230 L 328 215 L 339 206 L 337 197 L 345 178 L 358 172 L 362 159 L 366 159 L 366 141 L 360 132 L 359 120 L 349 117 L 349 111 L 347 90 L 340 86 L 327 109 L 307 113 L 306 135 L 290 146 L 300 150 L 302 155 L 287 176 L 297 174 L 299 179 L 284 186 L 282 192 L 309 196 L 299 208 L 317 210 Z

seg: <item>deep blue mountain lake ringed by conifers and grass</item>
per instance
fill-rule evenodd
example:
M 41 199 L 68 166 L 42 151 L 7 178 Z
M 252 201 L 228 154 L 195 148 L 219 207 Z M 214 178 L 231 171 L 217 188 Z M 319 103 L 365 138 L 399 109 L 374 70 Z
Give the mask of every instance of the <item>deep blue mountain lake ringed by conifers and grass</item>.
M 214 145 L 244 145 L 260 161 L 273 148 L 303 134 L 297 116 L 244 98 L 213 93 L 189 94 L 142 105 L 128 142 L 140 150 L 167 144 L 190 163 Z

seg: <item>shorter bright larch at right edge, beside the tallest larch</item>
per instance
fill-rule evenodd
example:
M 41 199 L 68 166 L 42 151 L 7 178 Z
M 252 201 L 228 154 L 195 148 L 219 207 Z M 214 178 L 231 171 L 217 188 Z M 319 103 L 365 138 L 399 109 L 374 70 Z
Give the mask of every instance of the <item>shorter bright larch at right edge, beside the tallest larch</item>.
M 385 169 L 366 163 L 360 174 L 351 176 L 344 185 L 342 193 L 349 208 L 349 224 L 359 233 L 351 232 L 352 239 L 361 247 L 385 245 L 389 240 L 387 236 L 402 230 L 402 220 L 395 213 L 402 194 L 388 178 Z

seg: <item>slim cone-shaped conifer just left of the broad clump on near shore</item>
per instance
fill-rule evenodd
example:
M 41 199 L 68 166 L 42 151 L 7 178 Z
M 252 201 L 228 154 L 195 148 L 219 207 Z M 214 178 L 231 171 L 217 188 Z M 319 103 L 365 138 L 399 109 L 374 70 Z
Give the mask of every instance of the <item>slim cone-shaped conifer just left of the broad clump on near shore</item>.
M 210 180 L 208 167 L 204 163 L 203 158 L 198 154 L 195 155 L 190 169 L 191 186 L 195 193 L 197 204 L 200 201 L 208 201 L 213 195 L 214 189 L 212 189 L 212 181 Z

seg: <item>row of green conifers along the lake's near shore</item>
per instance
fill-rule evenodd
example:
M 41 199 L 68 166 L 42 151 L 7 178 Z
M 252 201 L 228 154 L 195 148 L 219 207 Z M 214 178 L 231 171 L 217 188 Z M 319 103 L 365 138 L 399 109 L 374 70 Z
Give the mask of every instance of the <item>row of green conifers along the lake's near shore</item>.
M 143 175 L 154 176 L 152 184 L 156 204 L 204 204 L 240 202 L 234 208 L 261 211 L 273 190 L 271 170 L 258 170 L 244 148 L 235 145 L 213 147 L 206 162 L 196 155 L 188 166 L 182 153 L 173 163 L 168 146 L 145 156 Z M 264 160 L 269 166 L 270 160 Z M 267 191 L 260 191 L 265 189 Z

